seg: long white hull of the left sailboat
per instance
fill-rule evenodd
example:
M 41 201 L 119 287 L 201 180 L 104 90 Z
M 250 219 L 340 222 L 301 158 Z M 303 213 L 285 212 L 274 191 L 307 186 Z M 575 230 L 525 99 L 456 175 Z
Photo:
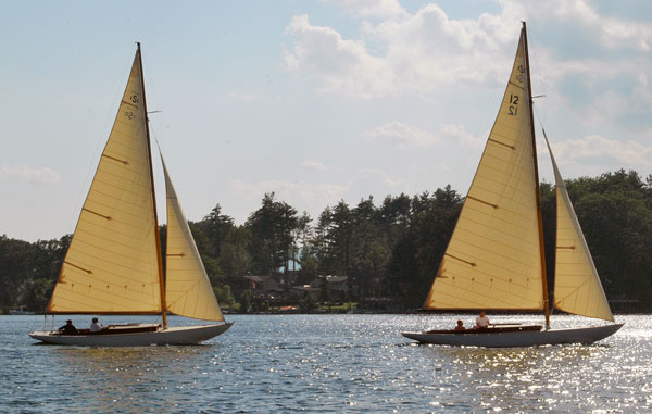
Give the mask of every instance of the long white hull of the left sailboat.
M 59 335 L 34 331 L 29 336 L 46 343 L 78 347 L 149 347 L 197 344 L 224 334 L 233 323 L 167 327 L 149 333 Z

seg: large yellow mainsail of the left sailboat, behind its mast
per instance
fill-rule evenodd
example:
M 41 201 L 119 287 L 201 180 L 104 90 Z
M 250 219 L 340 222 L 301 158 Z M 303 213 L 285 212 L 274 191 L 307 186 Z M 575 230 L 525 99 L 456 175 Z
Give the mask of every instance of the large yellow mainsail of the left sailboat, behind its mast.
M 139 51 L 49 313 L 160 313 L 156 221 Z

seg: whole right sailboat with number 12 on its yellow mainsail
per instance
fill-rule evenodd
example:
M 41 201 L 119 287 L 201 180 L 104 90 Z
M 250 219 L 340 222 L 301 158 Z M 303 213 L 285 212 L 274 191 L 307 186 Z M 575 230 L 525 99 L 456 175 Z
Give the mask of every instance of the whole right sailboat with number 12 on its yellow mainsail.
M 543 131 L 546 137 L 546 133 Z M 546 137 L 548 143 L 548 137 Z M 554 308 L 614 322 L 600 277 L 550 151 L 556 186 Z M 526 24 L 500 111 L 424 310 L 542 311 L 546 326 L 406 331 L 424 343 L 531 347 L 592 343 L 623 324 L 551 329 Z

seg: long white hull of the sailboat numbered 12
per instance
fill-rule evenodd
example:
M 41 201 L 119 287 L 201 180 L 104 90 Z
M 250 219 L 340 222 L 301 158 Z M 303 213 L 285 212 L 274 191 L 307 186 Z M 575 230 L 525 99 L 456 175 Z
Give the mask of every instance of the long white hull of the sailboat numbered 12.
M 455 347 L 485 347 L 485 348 L 510 348 L 510 347 L 536 347 L 562 343 L 593 343 L 615 334 L 623 324 L 591 326 L 586 328 L 527 330 L 527 331 L 466 331 L 426 334 L 426 333 L 401 333 L 404 337 L 414 339 L 422 343 L 447 344 Z

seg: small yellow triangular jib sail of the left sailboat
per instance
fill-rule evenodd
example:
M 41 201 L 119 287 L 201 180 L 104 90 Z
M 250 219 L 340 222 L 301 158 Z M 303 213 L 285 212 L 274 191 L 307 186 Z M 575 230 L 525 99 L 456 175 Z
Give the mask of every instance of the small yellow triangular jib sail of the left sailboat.
M 165 300 L 167 310 L 196 319 L 222 321 L 224 316 L 209 281 L 195 239 L 184 216 L 176 191 L 167 174 L 163 155 L 167 192 L 167 248 Z

